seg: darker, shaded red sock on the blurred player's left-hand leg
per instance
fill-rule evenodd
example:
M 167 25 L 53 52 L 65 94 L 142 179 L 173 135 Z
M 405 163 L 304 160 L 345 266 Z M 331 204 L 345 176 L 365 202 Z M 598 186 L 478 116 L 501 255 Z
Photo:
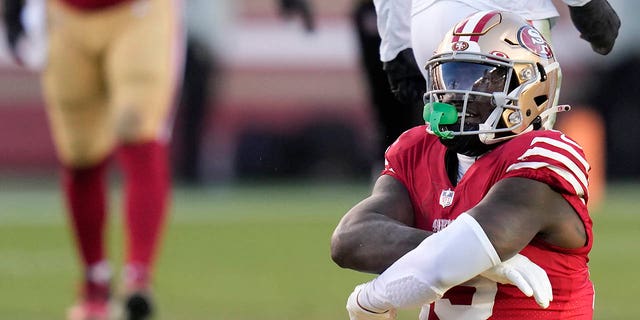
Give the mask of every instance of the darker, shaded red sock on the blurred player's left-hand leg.
M 62 168 L 71 226 L 85 269 L 105 257 L 106 167 L 107 161 L 90 168 Z

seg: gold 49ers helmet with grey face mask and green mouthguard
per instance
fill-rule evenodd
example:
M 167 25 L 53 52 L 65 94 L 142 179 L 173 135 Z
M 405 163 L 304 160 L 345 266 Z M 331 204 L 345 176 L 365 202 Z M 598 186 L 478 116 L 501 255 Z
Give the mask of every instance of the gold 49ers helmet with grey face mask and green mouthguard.
M 551 45 L 514 13 L 482 11 L 462 20 L 426 69 L 425 121 L 445 145 L 463 136 L 495 144 L 548 127 L 557 112 L 561 76 Z

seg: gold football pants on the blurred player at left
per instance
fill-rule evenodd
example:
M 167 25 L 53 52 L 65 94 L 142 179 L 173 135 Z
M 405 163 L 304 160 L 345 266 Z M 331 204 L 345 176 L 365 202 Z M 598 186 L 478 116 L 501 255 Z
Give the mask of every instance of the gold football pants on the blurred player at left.
M 184 59 L 181 0 L 78 11 L 49 2 L 42 76 L 58 156 L 79 167 L 120 143 L 167 140 Z

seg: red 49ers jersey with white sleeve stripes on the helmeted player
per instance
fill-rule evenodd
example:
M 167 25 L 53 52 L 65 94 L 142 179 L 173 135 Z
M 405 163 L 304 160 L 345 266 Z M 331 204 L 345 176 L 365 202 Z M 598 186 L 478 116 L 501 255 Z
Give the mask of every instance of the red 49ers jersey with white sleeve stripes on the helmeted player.
M 416 227 L 438 232 L 473 208 L 501 179 L 522 177 L 544 182 L 562 194 L 584 222 L 588 243 L 565 249 L 534 238 L 520 252 L 549 276 L 553 301 L 547 309 L 515 286 L 476 277 L 425 306 L 420 318 L 592 319 L 594 291 L 587 262 L 593 232 L 586 206 L 589 165 L 582 148 L 559 131 L 529 132 L 477 159 L 457 185 L 448 178 L 445 151 L 438 138 L 420 126 L 403 133 L 385 154 L 383 174 L 398 179 L 409 191 Z

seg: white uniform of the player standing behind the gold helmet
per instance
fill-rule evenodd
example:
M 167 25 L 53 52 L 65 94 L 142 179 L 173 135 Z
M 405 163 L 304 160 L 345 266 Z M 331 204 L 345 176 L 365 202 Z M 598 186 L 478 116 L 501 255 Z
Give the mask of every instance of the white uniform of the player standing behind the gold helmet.
M 591 0 L 563 0 L 582 6 Z M 391 61 L 406 48 L 422 47 L 416 61 L 430 57 L 444 33 L 472 13 L 501 10 L 517 13 L 527 20 L 550 20 L 558 16 L 552 0 L 374 0 L 378 15 L 378 32 L 382 39 L 380 60 Z M 417 28 L 422 26 L 421 28 Z M 413 34 L 411 30 L 419 30 Z M 416 44 L 416 39 L 428 44 Z M 430 48 L 430 49 L 428 49 Z M 425 60 L 426 61 L 426 60 Z

